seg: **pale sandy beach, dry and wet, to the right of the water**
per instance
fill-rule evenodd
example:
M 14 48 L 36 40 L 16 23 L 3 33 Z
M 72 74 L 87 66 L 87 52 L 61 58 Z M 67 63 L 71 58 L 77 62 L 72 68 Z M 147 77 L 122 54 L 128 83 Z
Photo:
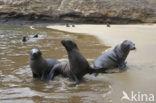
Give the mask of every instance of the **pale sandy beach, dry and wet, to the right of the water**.
M 134 93 L 153 94 L 156 96 L 156 25 L 111 25 L 109 28 L 106 25 L 79 24 L 76 27 L 67 28 L 58 24 L 47 27 L 93 35 L 101 43 L 111 47 L 121 43 L 123 40 L 132 40 L 136 44 L 137 50 L 130 52 L 128 55 L 126 60 L 128 70 L 123 73 L 101 74 L 100 76 L 105 76 L 112 85 L 110 95 L 113 103 L 130 102 L 127 100 L 121 101 L 122 91 L 125 91 L 128 95 L 134 91 Z M 133 103 L 135 102 L 137 103 L 137 101 L 133 101 Z

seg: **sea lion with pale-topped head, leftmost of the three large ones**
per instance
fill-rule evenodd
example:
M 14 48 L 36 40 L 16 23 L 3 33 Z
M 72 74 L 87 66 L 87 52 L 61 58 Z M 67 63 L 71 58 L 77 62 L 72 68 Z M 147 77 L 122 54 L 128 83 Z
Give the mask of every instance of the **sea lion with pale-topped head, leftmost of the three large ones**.
M 42 81 L 49 80 L 48 74 L 55 64 L 59 63 L 52 58 L 44 59 L 39 49 L 32 49 L 30 51 L 30 67 L 33 78 L 40 78 Z

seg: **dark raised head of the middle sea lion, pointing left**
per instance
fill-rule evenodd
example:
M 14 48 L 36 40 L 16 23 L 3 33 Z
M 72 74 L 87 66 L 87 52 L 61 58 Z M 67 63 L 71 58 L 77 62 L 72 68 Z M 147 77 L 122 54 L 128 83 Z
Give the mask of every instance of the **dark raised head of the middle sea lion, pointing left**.
M 78 49 L 76 43 L 72 40 L 62 40 L 61 43 L 66 48 L 67 51 Z

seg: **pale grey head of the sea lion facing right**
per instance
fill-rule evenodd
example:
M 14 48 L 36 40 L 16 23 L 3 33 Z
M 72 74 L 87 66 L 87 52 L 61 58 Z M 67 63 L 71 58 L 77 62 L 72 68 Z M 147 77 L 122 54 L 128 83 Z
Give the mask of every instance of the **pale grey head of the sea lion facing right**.
M 130 50 L 135 50 L 136 49 L 135 44 L 130 40 L 123 41 L 121 43 L 121 48 L 124 51 L 130 51 Z

